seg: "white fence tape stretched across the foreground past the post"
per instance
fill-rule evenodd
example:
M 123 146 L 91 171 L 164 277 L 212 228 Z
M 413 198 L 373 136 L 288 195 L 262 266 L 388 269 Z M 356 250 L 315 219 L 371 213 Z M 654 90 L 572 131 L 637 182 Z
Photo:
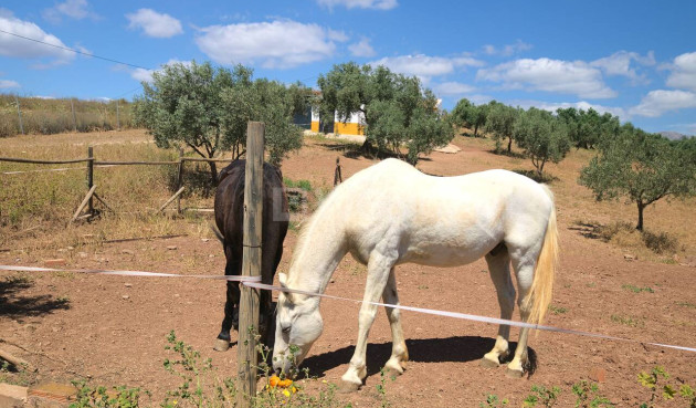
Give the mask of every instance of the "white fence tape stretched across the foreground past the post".
M 331 299 L 331 300 L 337 300 L 337 301 L 346 301 L 346 302 L 354 302 L 354 303 L 363 303 L 365 302 L 365 301 L 358 301 L 358 300 L 355 300 L 355 299 L 340 297 L 340 296 L 334 296 L 334 295 L 327 295 L 327 294 L 321 294 L 321 293 L 307 292 L 307 291 L 302 291 L 302 290 L 296 290 L 296 289 L 287 289 L 287 287 L 282 287 L 282 286 L 268 285 L 268 284 L 261 283 L 261 276 L 180 275 L 180 274 L 173 274 L 173 273 L 157 273 L 157 272 L 145 272 L 145 271 L 82 270 L 82 269 L 68 270 L 68 269 L 53 269 L 53 268 L 38 268 L 38 266 L 15 266 L 15 265 L 0 265 L 0 271 L 75 272 L 75 273 L 94 273 L 94 274 L 123 275 L 123 276 L 213 279 L 213 280 L 224 280 L 224 281 L 238 281 L 238 282 L 241 282 L 242 284 L 244 284 L 244 285 L 246 285 L 249 287 L 254 287 L 254 289 L 260 289 L 260 290 L 265 290 L 265 291 L 278 291 L 278 292 L 285 292 L 285 293 L 297 293 L 297 294 L 303 294 L 303 295 L 307 295 L 307 296 L 319 296 L 319 297 L 325 297 L 325 299 Z M 478 316 L 478 315 L 475 315 L 475 314 L 466 314 L 466 313 L 458 313 L 458 312 L 445 312 L 445 311 L 437 311 L 437 310 L 433 310 L 433 308 L 413 307 L 413 306 L 404 306 L 404 305 L 393 305 L 393 304 L 379 303 L 379 302 L 369 302 L 369 304 L 372 304 L 372 305 L 376 305 L 376 306 L 399 308 L 399 310 L 409 311 L 409 312 L 430 314 L 430 315 L 435 315 L 435 316 L 453 317 L 453 318 L 460 318 L 460 320 L 466 320 L 466 321 L 473 321 L 473 322 L 481 322 L 481 323 L 505 324 L 505 325 L 515 326 L 515 327 L 527 327 L 527 328 L 535 328 L 535 329 L 547 331 L 547 332 L 573 334 L 573 335 L 584 336 L 584 337 L 603 338 L 603 339 L 610 339 L 610 341 L 615 341 L 615 342 L 628 342 L 628 343 L 646 344 L 646 345 L 656 346 L 656 347 L 664 347 L 664 348 L 678 349 L 678 351 L 683 351 L 683 352 L 696 353 L 696 348 L 695 347 L 685 347 L 685 346 L 678 346 L 678 345 L 672 345 L 672 344 L 643 342 L 643 341 L 637 341 L 637 339 L 633 339 L 633 338 L 609 336 L 609 335 L 605 335 L 605 334 L 583 332 L 583 331 L 576 331 L 576 329 L 571 329 L 571 328 L 561 328 L 561 327 L 555 327 L 555 326 L 546 326 L 546 325 L 540 325 L 540 324 L 530 324 L 530 323 L 525 323 L 525 322 L 510 321 L 510 320 L 506 320 L 506 318 L 486 317 L 486 316 Z

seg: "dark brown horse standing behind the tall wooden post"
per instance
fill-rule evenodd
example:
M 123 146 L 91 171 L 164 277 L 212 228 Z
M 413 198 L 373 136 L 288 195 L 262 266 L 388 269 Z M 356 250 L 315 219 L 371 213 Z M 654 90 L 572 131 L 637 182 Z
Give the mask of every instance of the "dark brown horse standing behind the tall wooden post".
M 242 242 L 244 226 L 244 175 L 246 160 L 234 160 L 220 171 L 215 192 L 215 224 L 222 241 L 226 265 L 225 275 L 242 273 Z M 263 215 L 262 215 L 262 258 L 261 280 L 273 284 L 275 270 L 283 255 L 283 240 L 287 233 L 287 197 L 283 188 L 281 170 L 267 163 L 263 164 Z M 228 299 L 224 304 L 222 328 L 214 349 L 224 352 L 230 347 L 230 329 L 239 331 L 240 286 L 239 282 L 228 282 Z M 270 291 L 261 291 L 260 334 L 262 342 L 271 345 L 275 329 L 273 303 Z M 267 335 L 268 334 L 268 335 Z

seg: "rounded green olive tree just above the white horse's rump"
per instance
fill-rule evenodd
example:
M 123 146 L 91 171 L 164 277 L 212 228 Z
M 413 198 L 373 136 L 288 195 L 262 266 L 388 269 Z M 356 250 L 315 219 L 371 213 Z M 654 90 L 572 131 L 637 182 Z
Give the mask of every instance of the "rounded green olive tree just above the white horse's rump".
M 514 138 L 541 176 L 548 161 L 559 163 L 570 150 L 566 124 L 550 112 L 530 107 L 515 123 Z

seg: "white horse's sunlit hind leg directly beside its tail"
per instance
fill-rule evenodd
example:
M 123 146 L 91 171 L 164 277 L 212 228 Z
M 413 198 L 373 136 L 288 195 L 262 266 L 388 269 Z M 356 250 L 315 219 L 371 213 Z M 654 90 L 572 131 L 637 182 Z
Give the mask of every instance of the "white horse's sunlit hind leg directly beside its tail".
M 531 289 L 531 282 L 534 281 L 534 268 L 536 264 L 538 251 L 527 251 L 523 257 L 513 257 L 513 268 L 515 269 L 515 275 L 517 276 L 517 305 L 519 306 L 519 316 L 523 322 L 529 322 L 530 308 L 525 307 L 524 300 L 529 294 Z M 515 356 L 513 360 L 507 365 L 507 376 L 519 378 L 525 374 L 525 364 L 527 363 L 527 338 L 529 336 L 529 328 L 523 327 L 519 331 L 519 341 L 515 348 Z

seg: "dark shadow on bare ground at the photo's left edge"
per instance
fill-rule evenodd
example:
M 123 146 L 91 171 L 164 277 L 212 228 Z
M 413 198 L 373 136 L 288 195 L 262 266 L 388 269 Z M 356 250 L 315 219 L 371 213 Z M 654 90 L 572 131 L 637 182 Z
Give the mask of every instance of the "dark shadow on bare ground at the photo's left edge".
M 53 313 L 55 310 L 70 308 L 67 299 L 54 299 L 52 295 L 21 296 L 21 291 L 33 286 L 30 279 L 7 276 L 0 281 L 0 315 L 10 318 L 33 317 Z

